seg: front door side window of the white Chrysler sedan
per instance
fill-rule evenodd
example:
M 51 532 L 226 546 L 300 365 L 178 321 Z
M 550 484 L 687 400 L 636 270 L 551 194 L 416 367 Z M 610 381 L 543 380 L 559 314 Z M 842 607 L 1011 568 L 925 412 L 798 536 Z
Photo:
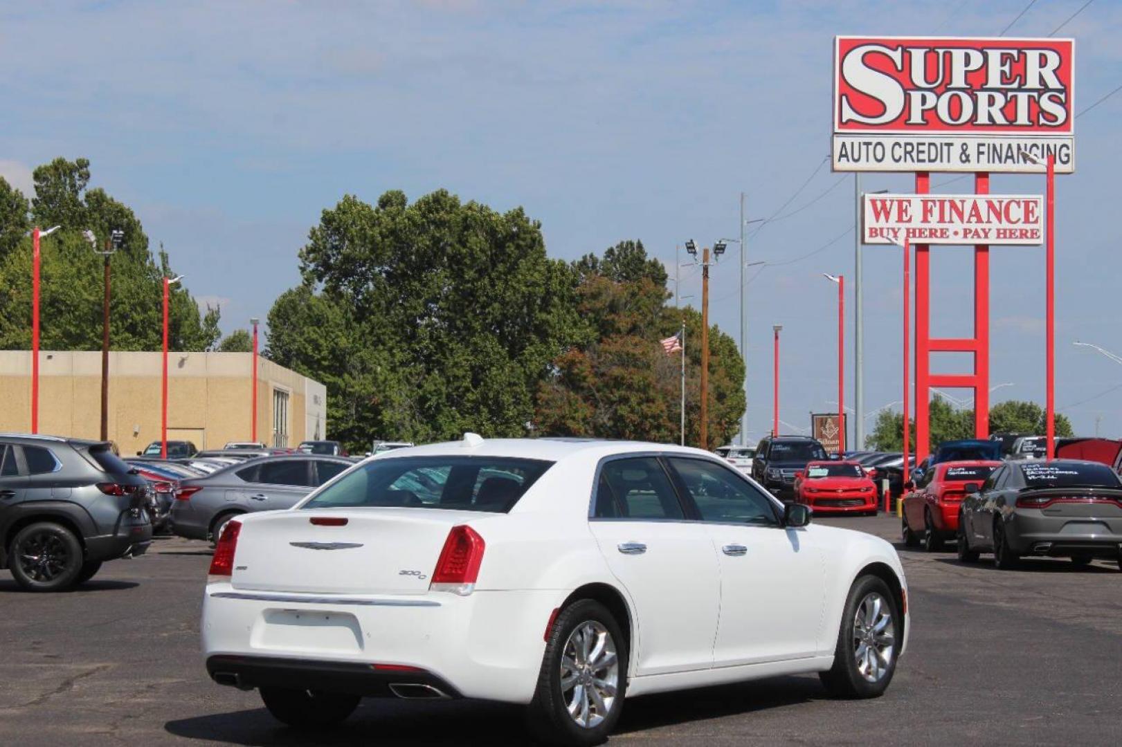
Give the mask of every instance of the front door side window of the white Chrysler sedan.
M 666 460 L 686 486 L 703 522 L 778 526 L 772 501 L 751 482 L 703 459 Z

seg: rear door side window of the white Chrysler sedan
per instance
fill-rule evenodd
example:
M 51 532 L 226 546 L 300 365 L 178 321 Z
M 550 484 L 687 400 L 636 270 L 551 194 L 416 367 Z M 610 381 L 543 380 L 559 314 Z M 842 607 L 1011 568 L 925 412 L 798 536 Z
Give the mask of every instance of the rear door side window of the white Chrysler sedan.
M 681 519 L 678 492 L 654 457 L 614 459 L 600 468 L 596 518 Z

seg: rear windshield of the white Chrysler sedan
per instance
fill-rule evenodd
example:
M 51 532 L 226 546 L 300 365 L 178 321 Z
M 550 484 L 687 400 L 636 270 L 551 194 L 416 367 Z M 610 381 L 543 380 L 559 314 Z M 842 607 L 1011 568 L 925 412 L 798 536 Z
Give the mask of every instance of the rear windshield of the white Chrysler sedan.
M 502 457 L 376 459 L 329 486 L 303 508 L 387 506 L 504 514 L 552 465 Z

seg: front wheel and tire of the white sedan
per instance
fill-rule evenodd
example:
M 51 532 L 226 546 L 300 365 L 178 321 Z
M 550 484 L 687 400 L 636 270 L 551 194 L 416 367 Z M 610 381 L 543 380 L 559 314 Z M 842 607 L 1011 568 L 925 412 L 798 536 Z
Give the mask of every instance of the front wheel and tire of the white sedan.
M 842 612 L 834 666 L 818 674 L 829 693 L 849 699 L 884 694 L 896 670 L 902 622 L 883 579 L 863 575 L 854 581 Z

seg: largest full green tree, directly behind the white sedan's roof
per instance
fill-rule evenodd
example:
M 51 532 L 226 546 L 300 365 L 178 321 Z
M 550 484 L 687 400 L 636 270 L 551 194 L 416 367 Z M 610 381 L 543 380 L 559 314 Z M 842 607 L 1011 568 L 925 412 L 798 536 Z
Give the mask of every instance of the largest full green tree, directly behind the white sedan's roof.
M 541 225 L 445 191 L 347 195 L 269 313 L 273 360 L 328 386 L 332 435 L 525 435 L 537 382 L 580 329 L 576 274 Z

